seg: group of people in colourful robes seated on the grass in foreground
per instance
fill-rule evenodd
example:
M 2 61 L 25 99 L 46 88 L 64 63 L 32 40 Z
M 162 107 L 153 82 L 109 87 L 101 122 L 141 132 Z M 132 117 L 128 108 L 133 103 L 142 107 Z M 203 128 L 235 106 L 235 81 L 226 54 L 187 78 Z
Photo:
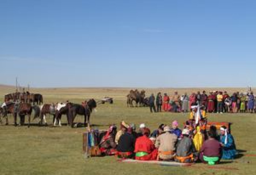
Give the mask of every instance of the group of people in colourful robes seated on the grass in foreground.
M 122 121 L 119 131 L 115 125 L 109 127 L 101 139 L 99 149 L 105 155 L 136 160 L 215 164 L 221 159 L 234 159 L 236 145 L 227 127 L 222 126 L 218 135 L 214 125 L 206 131 L 206 124 L 205 117 L 199 121 L 189 118 L 182 130 L 175 120 L 171 127 L 161 124 L 150 132 L 142 123 L 136 132 L 135 124 L 128 125 Z

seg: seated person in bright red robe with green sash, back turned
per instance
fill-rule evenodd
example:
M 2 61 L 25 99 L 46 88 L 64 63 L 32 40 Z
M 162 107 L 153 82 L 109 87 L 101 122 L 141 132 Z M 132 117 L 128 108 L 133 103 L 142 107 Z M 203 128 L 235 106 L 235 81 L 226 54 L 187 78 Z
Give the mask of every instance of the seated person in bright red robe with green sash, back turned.
M 148 138 L 150 130 L 145 128 L 143 136 L 136 139 L 135 142 L 135 159 L 136 160 L 157 160 L 157 149 L 153 142 Z

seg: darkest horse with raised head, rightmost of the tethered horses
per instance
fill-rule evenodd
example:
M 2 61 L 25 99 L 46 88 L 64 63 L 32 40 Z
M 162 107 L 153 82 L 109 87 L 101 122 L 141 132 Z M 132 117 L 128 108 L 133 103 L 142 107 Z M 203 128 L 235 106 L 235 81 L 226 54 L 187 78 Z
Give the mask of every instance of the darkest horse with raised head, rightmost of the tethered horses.
M 86 106 L 82 106 L 79 104 L 73 105 L 69 109 L 69 124 L 71 124 L 71 127 L 74 127 L 74 120 L 77 114 L 84 116 L 84 126 L 90 125 L 90 114 L 93 111 L 94 108 L 97 107 L 97 103 L 94 99 L 90 99 L 87 101 Z

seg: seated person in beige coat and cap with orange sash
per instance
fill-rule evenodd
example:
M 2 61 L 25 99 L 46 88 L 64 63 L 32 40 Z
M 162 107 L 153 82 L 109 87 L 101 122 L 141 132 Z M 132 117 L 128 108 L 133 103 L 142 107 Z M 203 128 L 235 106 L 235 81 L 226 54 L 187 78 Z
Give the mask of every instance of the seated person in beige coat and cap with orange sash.
M 161 160 L 170 160 L 175 156 L 177 136 L 170 131 L 170 127 L 164 127 L 163 133 L 155 141 L 155 147 L 158 148 L 158 158 Z

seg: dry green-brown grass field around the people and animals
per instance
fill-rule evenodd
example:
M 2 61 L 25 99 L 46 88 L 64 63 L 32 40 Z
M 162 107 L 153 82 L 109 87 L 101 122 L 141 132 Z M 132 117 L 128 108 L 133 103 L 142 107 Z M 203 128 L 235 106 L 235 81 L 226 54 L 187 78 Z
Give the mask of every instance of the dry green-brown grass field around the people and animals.
M 134 88 L 133 88 L 134 89 Z M 246 88 L 221 88 L 229 93 L 234 91 L 246 91 Z M 109 96 L 114 98 L 114 104 L 101 104 L 97 112 L 91 116 L 93 128 L 107 129 L 110 124 L 119 124 L 121 120 L 127 123 L 146 123 L 151 129 L 157 128 L 161 123 L 170 124 L 177 119 L 183 123 L 188 114 L 176 113 L 150 113 L 148 108 L 127 108 L 125 95 L 130 88 L 45 88 L 31 89 L 33 93 L 41 93 L 44 102 L 58 102 L 69 100 L 80 103 L 88 98 L 96 100 Z M 141 90 L 141 89 L 139 89 Z M 184 92 L 196 92 L 203 89 L 145 89 L 150 93 L 167 92 L 172 94 L 178 90 Z M 0 101 L 4 94 L 14 92 L 12 86 L 0 86 Z M 255 91 L 256 92 L 256 91 Z M 190 167 L 171 167 L 150 164 L 133 164 L 117 162 L 115 157 L 85 159 L 82 154 L 82 133 L 85 128 L 39 127 L 38 119 L 33 121 L 33 126 L 14 127 L 12 117 L 10 125 L 0 125 L 0 174 L 33 174 L 33 175 L 220 175 L 220 174 L 256 174 L 256 114 L 209 114 L 210 121 L 229 121 L 232 124 L 231 131 L 236 140 L 237 149 L 240 150 L 238 159 L 223 161 L 222 164 L 208 166 L 195 164 Z M 47 117 L 48 123 L 52 117 Z M 27 121 L 27 118 L 26 118 Z M 82 122 L 82 116 L 78 116 L 75 122 Z M 62 117 L 62 123 L 66 123 Z M 180 126 L 181 127 L 181 126 Z

